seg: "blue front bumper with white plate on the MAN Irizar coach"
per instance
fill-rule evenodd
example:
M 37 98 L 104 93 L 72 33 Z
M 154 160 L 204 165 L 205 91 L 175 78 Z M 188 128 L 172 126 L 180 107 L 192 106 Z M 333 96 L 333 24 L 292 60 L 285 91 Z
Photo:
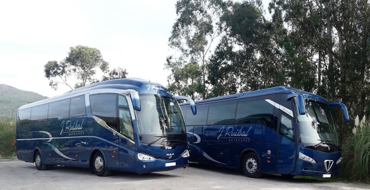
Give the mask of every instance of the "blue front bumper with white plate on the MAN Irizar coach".
M 145 165 L 145 166 L 144 166 Z M 136 157 L 136 173 L 149 173 L 156 171 L 169 171 L 189 166 L 189 157 L 178 157 L 173 160 L 156 159 L 153 161 L 141 161 Z

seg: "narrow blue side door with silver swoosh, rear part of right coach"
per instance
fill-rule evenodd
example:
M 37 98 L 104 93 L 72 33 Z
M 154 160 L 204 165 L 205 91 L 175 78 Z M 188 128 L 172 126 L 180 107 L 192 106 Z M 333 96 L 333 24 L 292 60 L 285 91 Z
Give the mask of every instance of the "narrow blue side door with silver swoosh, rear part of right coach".
M 201 161 L 202 160 L 202 134 L 203 126 L 193 127 L 193 141 L 191 145 L 191 161 Z

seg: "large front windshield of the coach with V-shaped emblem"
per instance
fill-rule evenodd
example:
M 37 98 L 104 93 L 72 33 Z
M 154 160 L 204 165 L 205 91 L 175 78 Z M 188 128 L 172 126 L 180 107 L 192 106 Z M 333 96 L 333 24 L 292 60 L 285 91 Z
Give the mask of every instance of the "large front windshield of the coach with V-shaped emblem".
M 337 131 L 329 106 L 319 101 L 306 100 L 305 108 L 305 115 L 296 112 L 299 142 L 304 146 L 319 146 L 320 143 L 338 145 Z

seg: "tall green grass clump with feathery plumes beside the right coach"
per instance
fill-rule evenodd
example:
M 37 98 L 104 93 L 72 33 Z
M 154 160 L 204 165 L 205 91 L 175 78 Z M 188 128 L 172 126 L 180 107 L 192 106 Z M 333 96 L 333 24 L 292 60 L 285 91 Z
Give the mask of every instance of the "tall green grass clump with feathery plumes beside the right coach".
M 350 181 L 370 182 L 370 123 L 358 122 L 353 135 L 343 143 L 340 176 Z

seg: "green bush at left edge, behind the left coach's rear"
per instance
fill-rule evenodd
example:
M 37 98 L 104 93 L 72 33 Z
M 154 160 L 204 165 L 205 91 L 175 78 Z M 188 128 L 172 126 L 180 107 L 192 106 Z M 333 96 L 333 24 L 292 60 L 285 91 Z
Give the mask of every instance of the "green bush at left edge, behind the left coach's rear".
M 0 157 L 16 156 L 16 122 L 9 119 L 0 120 Z

